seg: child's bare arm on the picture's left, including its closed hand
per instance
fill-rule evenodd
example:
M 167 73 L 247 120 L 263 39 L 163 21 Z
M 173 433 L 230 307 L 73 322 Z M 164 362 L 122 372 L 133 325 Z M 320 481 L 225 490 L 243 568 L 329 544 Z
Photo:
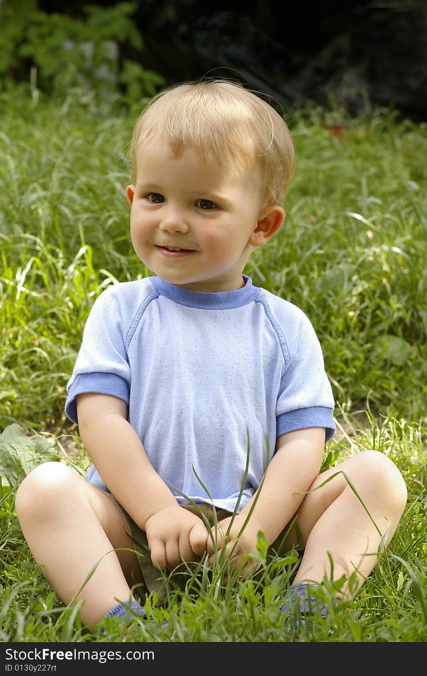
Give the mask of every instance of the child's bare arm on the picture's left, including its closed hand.
M 84 448 L 111 493 L 147 533 L 153 564 L 164 569 L 202 554 L 203 521 L 177 504 L 155 472 L 128 423 L 126 403 L 109 395 L 80 394 L 77 412 Z

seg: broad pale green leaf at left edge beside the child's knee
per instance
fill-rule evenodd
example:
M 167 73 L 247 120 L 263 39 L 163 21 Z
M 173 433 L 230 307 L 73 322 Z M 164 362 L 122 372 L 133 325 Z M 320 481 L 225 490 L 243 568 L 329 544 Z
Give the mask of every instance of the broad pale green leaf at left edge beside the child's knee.
M 26 435 L 20 425 L 9 425 L 0 434 L 0 473 L 10 483 L 20 483 L 34 467 L 59 457 L 49 441 L 39 434 Z

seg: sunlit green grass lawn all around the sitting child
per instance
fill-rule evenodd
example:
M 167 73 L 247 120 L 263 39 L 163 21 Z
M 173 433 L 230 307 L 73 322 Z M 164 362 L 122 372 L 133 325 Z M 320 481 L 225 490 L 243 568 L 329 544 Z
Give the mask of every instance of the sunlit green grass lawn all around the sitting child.
M 41 433 L 80 471 L 88 458 L 64 402 L 84 321 L 106 285 L 151 274 L 132 250 L 124 194 L 135 115 L 99 114 L 73 95 L 0 98 L 0 432 L 18 423 Z M 152 623 L 135 623 L 143 641 L 425 640 L 426 125 L 384 110 L 348 120 L 338 109 L 293 112 L 288 123 L 298 159 L 286 221 L 245 272 L 303 308 L 318 333 L 338 426 L 325 457 L 388 454 L 405 477 L 407 508 L 355 602 L 330 609 L 330 625 L 314 616 L 284 627 L 278 608 L 293 559 L 274 577 L 266 566 L 261 581 L 229 587 L 190 577 L 197 596 L 171 592 Z M 0 640 L 92 641 L 34 563 L 15 491 L 3 485 L 0 500 Z M 102 640 L 124 631 L 105 621 Z

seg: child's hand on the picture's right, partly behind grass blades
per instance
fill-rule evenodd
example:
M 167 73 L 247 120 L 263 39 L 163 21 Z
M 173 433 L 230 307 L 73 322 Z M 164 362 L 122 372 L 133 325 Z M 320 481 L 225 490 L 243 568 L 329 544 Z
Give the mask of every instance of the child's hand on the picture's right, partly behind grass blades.
M 230 533 L 228 533 L 227 541 L 225 541 L 226 531 L 230 525 L 232 517 L 228 516 L 227 518 L 224 518 L 222 521 L 218 522 L 217 557 L 219 558 L 225 550 L 226 555 L 230 555 L 231 557 L 230 569 L 238 570 L 239 575 L 245 575 L 245 573 L 253 571 L 254 566 L 256 566 L 256 568 L 259 567 L 259 564 L 253 562 L 253 560 L 247 560 L 245 564 L 243 564 L 242 561 L 242 558 L 245 556 L 245 554 L 257 554 L 258 531 L 263 530 L 259 521 L 256 521 L 255 518 L 250 518 L 243 533 L 241 533 L 240 537 L 238 537 L 238 533 L 240 533 L 246 519 L 247 514 L 238 514 L 234 517 Z M 212 527 L 211 531 L 213 539 L 215 539 L 215 527 Z M 212 565 L 216 555 L 213 553 L 213 543 L 210 536 L 207 538 L 206 551 L 207 554 L 210 554 L 208 557 L 208 563 L 209 565 Z

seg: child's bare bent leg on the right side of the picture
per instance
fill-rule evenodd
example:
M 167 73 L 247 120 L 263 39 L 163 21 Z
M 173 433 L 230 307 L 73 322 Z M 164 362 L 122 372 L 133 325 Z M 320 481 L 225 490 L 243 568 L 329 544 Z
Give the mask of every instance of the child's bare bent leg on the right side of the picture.
M 343 573 L 349 577 L 353 571 L 358 571 L 360 587 L 376 564 L 382 535 L 388 529 L 387 545 L 405 508 L 405 482 L 395 464 L 384 454 L 364 451 L 351 456 L 320 474 L 311 489 L 320 486 L 336 472 L 343 472 L 349 477 L 376 526 L 343 474 L 338 474 L 318 491 L 309 493 L 298 511 L 297 521 L 303 533 L 305 551 L 295 584 L 320 583 L 325 574 L 330 577 L 330 552 L 333 579 L 338 579 Z M 288 544 L 296 542 L 294 530 L 289 535 Z M 348 591 L 345 587 L 344 592 Z

